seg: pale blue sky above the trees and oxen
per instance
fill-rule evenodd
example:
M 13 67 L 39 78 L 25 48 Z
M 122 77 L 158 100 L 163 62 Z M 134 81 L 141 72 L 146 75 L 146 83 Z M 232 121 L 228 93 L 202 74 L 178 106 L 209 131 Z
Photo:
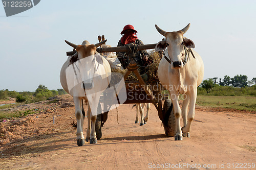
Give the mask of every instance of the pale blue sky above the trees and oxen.
M 144 44 L 163 36 L 155 29 L 178 31 L 194 41 L 205 65 L 204 79 L 256 77 L 256 1 L 49 1 L 6 17 L 0 4 L 0 89 L 35 91 L 39 84 L 62 88 L 59 72 L 72 48 L 98 42 L 116 46 L 131 24 Z

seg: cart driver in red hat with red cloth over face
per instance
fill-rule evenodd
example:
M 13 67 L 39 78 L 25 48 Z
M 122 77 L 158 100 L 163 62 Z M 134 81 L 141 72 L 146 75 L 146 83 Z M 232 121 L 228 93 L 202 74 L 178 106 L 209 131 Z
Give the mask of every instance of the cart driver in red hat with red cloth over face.
M 137 31 L 134 29 L 132 25 L 126 25 L 123 28 L 123 31 L 121 32 L 121 39 L 119 40 L 117 46 L 124 46 L 126 44 L 134 43 L 138 45 L 143 45 L 143 42 L 138 39 L 136 35 Z M 123 68 L 125 69 L 127 67 L 128 61 L 127 56 L 125 56 L 125 52 L 117 52 L 116 53 L 118 59 L 120 60 Z M 148 65 L 150 64 L 151 60 L 148 59 L 148 53 L 145 50 L 138 51 L 136 53 L 136 60 L 139 65 Z M 142 72 L 141 72 L 142 71 Z M 140 69 L 141 74 L 145 73 L 144 69 Z

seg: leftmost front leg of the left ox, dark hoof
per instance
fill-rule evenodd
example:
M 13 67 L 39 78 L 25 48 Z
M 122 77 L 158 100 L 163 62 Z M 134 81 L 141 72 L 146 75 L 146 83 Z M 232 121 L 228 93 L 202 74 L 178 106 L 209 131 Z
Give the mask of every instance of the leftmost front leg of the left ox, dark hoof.
M 83 124 L 83 115 L 82 115 L 82 102 L 81 98 L 74 97 L 73 98 L 75 103 L 75 115 L 77 120 L 77 131 L 76 131 L 76 141 L 77 145 L 80 147 L 84 144 L 84 137 L 82 133 L 82 124 Z

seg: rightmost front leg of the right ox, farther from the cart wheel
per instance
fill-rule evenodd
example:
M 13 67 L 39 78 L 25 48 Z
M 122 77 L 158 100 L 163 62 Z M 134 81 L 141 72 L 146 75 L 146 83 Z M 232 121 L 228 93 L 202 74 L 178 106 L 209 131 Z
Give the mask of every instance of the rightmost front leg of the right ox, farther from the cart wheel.
M 189 91 L 189 111 L 187 114 L 187 125 L 182 128 L 182 132 L 190 132 L 191 123 L 195 117 L 195 105 L 197 100 L 197 88 Z

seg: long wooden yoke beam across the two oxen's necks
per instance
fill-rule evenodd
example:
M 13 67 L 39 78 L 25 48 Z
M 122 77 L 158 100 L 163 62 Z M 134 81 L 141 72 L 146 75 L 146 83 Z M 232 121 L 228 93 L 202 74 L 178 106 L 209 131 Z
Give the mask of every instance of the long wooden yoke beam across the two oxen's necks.
M 155 44 L 139 45 L 138 46 L 138 51 L 153 49 L 153 48 L 155 48 L 155 46 L 156 46 L 156 43 Z M 97 48 L 96 51 L 98 53 L 127 52 L 127 48 L 125 46 L 102 47 L 102 48 Z M 76 51 L 67 52 L 67 56 L 72 56 L 75 53 L 76 53 Z

